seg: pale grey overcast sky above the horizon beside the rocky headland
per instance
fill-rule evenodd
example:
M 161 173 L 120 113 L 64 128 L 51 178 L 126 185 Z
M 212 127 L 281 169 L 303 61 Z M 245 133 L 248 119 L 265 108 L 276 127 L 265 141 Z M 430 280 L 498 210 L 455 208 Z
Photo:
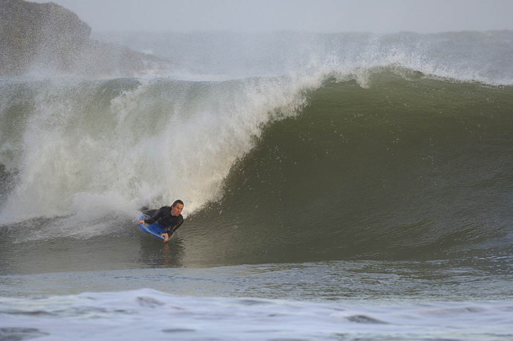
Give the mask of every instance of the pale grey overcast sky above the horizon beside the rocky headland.
M 34 2 L 45 3 L 46 0 Z M 53 0 L 101 31 L 513 30 L 513 0 Z

